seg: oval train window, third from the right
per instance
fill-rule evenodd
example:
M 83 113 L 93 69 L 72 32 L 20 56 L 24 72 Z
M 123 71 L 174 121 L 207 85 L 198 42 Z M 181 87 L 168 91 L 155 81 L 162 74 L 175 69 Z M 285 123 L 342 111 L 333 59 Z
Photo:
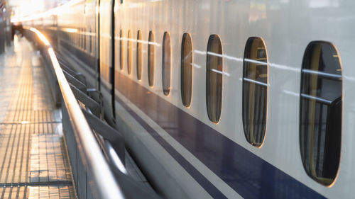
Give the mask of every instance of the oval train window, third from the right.
M 222 42 L 210 35 L 207 44 L 206 102 L 209 120 L 218 123 L 222 112 L 223 58 Z

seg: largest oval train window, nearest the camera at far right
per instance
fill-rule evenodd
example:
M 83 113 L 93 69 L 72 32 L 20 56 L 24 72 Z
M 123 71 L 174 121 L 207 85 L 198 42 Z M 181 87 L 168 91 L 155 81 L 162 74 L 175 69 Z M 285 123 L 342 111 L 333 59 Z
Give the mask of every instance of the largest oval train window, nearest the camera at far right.
M 342 137 L 342 67 L 329 42 L 310 42 L 302 62 L 300 150 L 307 174 L 329 186 L 337 176 Z

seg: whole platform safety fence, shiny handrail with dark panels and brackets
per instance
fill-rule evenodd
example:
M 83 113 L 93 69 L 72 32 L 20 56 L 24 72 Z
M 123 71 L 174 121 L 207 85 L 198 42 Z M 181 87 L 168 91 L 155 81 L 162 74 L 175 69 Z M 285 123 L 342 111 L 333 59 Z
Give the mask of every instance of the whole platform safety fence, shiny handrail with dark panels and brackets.
M 62 126 L 78 198 L 159 198 L 127 174 L 124 138 L 102 120 L 102 94 L 87 87 L 45 35 L 24 28 L 40 50 L 53 99 L 62 109 Z

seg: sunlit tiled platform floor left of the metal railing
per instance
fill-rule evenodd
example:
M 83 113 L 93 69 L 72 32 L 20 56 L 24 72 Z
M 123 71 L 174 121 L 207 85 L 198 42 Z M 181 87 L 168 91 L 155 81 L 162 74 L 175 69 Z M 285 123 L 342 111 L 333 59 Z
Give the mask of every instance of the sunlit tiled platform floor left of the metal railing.
M 0 199 L 75 198 L 38 52 L 25 39 L 0 55 Z

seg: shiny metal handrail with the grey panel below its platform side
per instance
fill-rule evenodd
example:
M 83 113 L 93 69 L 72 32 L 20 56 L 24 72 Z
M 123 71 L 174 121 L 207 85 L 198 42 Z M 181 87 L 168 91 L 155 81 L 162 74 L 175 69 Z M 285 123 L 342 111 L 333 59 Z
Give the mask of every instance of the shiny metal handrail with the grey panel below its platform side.
M 71 153 L 73 178 L 79 198 L 125 198 L 120 184 L 116 181 L 117 174 L 110 169 L 92 128 L 87 123 L 77 98 L 65 78 L 53 47 L 39 30 L 28 28 L 28 31 L 33 33 L 30 37 L 36 36 L 42 42 L 41 50 L 48 53 L 55 79 L 58 80 L 63 101 L 62 122 L 66 125 L 65 140 L 67 151 Z M 53 84 L 53 79 L 50 81 Z

